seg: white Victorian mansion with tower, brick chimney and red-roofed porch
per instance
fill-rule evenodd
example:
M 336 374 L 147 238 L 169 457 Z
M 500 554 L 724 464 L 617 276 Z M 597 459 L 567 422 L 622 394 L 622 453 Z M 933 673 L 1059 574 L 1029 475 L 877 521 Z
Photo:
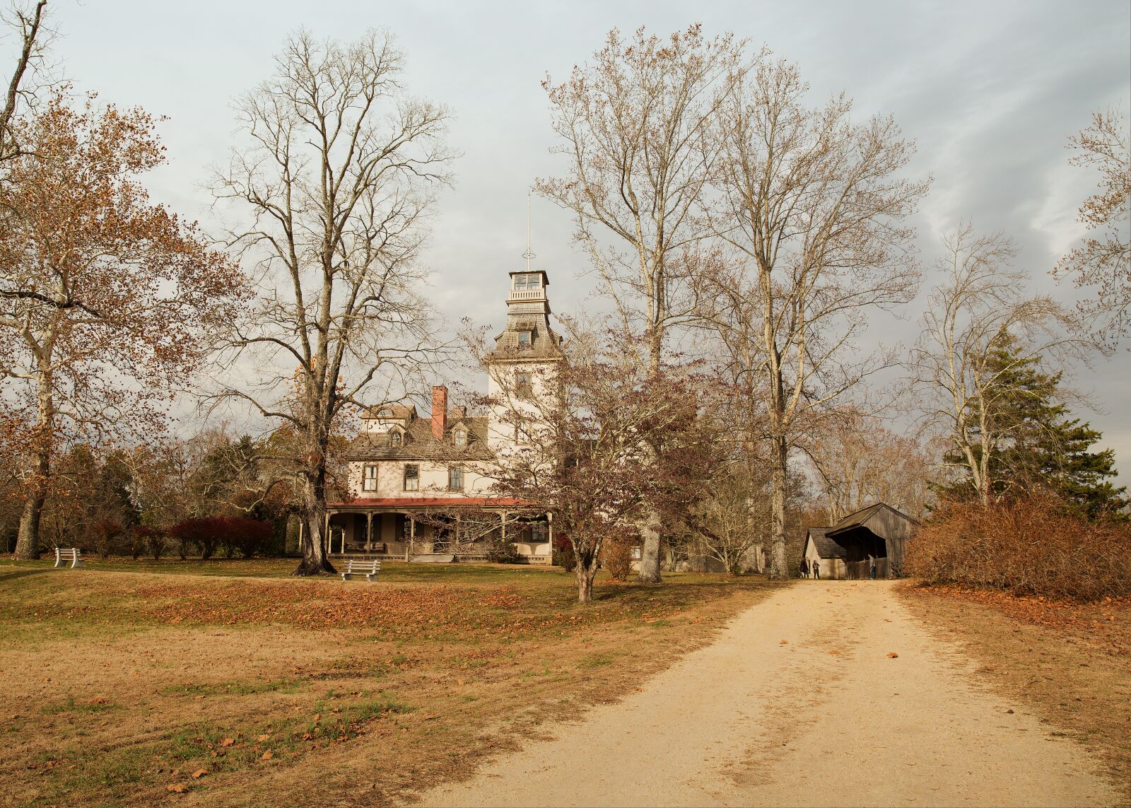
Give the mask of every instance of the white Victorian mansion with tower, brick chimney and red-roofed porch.
M 507 326 L 487 356 L 489 396 L 506 397 L 503 388 L 538 392 L 562 360 L 547 283 L 541 270 L 510 273 Z M 331 553 L 474 560 L 502 536 L 529 562 L 549 564 L 552 517 L 493 497 L 485 467 L 528 437 L 501 406 L 486 415 L 449 407 L 443 386 L 432 388 L 430 418 L 412 405 L 368 412 L 347 455 L 352 498 L 329 504 Z M 474 514 L 474 527 L 461 526 L 461 513 Z

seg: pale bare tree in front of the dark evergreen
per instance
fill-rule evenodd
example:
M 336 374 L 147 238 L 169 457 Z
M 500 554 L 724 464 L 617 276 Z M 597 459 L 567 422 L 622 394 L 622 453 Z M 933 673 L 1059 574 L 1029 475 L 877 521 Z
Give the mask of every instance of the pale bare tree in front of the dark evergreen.
M 988 505 L 991 457 L 1005 437 L 994 418 L 999 401 L 1013 390 L 1001 379 L 1034 358 L 1086 360 L 1095 347 L 1080 337 L 1072 313 L 1048 295 L 1028 294 L 1025 273 L 1010 268 L 1013 241 L 1001 233 L 979 235 L 970 224 L 943 235 L 943 256 L 923 315 L 923 333 L 909 358 L 912 381 L 923 414 L 939 429 L 962 470 Z M 994 349 L 1010 341 L 1009 361 Z

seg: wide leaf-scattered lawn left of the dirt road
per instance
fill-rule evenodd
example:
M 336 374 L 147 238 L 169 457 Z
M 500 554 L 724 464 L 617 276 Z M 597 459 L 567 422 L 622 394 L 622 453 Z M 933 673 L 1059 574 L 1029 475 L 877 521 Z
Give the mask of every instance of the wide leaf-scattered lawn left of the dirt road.
M 294 564 L 0 562 L 0 805 L 400 802 L 774 590 L 598 581 L 580 607 L 558 569 L 386 562 L 368 584 Z

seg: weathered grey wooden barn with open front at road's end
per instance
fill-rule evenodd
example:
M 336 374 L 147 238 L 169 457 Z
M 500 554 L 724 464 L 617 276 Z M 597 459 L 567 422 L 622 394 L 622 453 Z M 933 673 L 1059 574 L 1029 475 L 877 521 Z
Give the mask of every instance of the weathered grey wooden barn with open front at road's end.
M 904 575 L 904 544 L 918 521 L 886 502 L 848 514 L 831 527 L 810 527 L 803 555 L 820 564 L 822 578 L 869 577 L 867 557 L 875 557 L 877 578 Z

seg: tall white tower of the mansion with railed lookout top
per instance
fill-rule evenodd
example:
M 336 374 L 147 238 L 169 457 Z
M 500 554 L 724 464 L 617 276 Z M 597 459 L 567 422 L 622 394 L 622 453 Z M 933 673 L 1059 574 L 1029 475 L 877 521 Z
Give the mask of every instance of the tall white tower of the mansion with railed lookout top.
M 552 395 L 562 338 L 550 327 L 550 278 L 541 269 L 510 273 L 507 325 L 486 358 L 487 448 L 504 457 L 536 439 L 538 407 Z

